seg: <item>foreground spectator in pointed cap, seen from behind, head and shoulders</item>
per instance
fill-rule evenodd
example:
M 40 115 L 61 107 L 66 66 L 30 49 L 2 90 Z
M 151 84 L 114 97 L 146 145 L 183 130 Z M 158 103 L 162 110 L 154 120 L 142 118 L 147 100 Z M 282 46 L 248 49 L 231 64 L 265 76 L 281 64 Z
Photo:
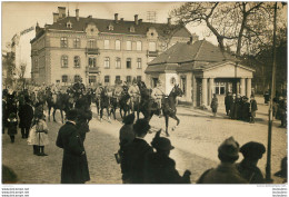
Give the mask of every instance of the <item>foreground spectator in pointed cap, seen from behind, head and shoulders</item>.
M 239 158 L 239 144 L 232 138 L 226 139 L 218 148 L 221 164 L 217 168 L 206 170 L 197 184 L 248 184 L 236 168 Z

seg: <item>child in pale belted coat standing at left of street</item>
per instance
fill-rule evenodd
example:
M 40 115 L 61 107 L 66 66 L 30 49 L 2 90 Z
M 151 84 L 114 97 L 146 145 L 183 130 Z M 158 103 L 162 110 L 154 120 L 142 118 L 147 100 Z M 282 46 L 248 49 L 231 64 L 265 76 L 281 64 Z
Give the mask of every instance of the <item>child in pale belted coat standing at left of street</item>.
M 30 130 L 28 144 L 33 145 L 33 154 L 37 156 L 48 156 L 44 154 L 44 146 L 49 144 L 48 127 L 44 120 L 44 115 L 36 114 L 34 126 Z

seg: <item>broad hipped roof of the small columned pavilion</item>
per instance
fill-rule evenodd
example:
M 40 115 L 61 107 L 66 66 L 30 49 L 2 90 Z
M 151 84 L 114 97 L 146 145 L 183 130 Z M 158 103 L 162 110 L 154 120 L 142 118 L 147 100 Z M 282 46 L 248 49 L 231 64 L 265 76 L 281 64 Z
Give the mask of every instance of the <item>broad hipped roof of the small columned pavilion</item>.
M 190 62 L 190 61 L 206 61 L 206 62 L 219 62 L 223 60 L 237 59 L 227 53 L 221 52 L 219 47 L 213 46 L 212 43 L 206 40 L 198 40 L 193 43 L 181 43 L 178 42 L 171 48 L 166 50 L 159 57 L 149 62 L 149 66 L 159 65 L 159 63 L 180 63 L 180 62 Z

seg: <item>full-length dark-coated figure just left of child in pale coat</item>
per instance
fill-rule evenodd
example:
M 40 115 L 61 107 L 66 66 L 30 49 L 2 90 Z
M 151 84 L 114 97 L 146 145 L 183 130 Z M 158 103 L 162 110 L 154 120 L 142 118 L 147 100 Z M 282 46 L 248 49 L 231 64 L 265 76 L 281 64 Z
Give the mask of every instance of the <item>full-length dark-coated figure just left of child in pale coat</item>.
M 24 104 L 19 106 L 19 127 L 21 128 L 22 138 L 28 138 L 29 130 L 33 119 L 33 108 L 30 106 L 30 100 L 24 97 Z

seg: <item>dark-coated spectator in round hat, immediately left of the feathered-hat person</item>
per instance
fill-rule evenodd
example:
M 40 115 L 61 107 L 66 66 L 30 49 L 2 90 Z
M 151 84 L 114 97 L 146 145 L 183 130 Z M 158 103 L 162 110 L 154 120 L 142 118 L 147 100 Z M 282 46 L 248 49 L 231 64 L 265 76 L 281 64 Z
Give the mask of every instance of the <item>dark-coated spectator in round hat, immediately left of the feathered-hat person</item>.
M 144 184 L 144 164 L 152 147 L 143 139 L 150 129 L 146 119 L 139 119 L 133 125 L 136 138 L 126 147 L 121 159 L 123 184 Z

